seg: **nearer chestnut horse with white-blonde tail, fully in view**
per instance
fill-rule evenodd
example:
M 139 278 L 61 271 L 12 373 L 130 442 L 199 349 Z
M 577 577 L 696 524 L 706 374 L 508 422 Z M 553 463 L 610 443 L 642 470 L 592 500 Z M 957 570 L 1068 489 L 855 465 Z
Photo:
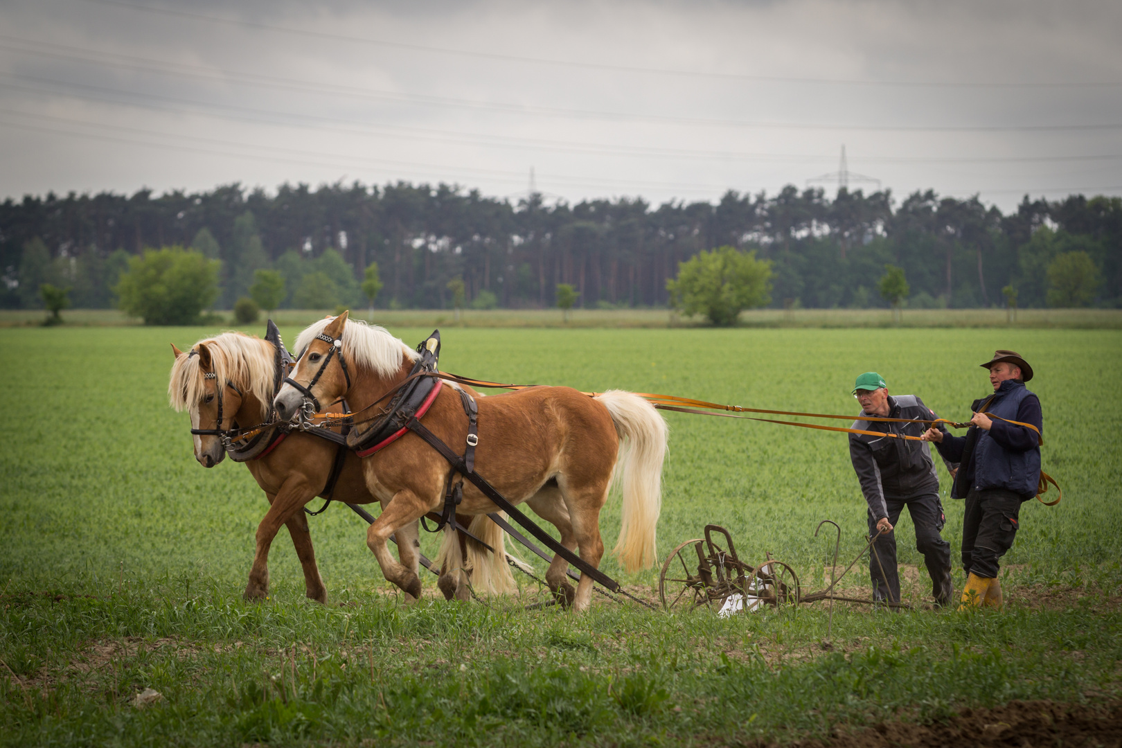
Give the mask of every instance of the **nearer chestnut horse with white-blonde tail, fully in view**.
M 295 417 L 305 398 L 322 404 L 346 398 L 356 417 L 348 436 L 352 446 L 364 444 L 371 428 L 384 426 L 364 422 L 388 418 L 388 407 L 379 410 L 387 401 L 384 396 L 408 378 L 419 355 L 383 327 L 348 321 L 347 312 L 304 330 L 296 350 L 303 352 L 286 381 L 301 389 L 292 384 L 280 388 L 274 399 L 278 417 Z M 445 444 L 465 449 L 473 441 L 467 399 L 453 387 L 432 391 L 434 399 L 422 423 Z M 568 387 L 533 387 L 481 398 L 477 407 L 475 464 L 511 504 L 528 504 L 558 528 L 567 548 L 579 548 L 580 557 L 598 567 L 604 555 L 600 509 L 618 468 L 623 523 L 615 552 L 627 571 L 654 562 L 666 424 L 651 404 L 620 390 L 589 397 Z M 440 511 L 457 475 L 414 432 L 398 436 L 362 458 L 367 487 L 384 506 L 367 530 L 367 545 L 386 579 L 416 594 L 421 584 L 416 572 L 393 560 L 386 541 L 399 527 Z M 496 509 L 475 484 L 462 483 L 457 512 L 480 516 Z M 582 573 L 573 592 L 567 571 L 568 562 L 555 555 L 546 582 L 563 603 L 585 610 L 592 579 Z

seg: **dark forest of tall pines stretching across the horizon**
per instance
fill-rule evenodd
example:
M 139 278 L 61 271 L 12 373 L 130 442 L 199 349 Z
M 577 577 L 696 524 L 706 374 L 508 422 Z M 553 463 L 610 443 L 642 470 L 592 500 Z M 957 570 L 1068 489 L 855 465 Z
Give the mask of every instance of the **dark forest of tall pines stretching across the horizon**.
M 886 265 L 902 268 L 910 307 L 1122 305 L 1122 198 L 1026 197 L 1009 214 L 977 197 L 788 186 L 728 192 L 717 203 L 641 198 L 511 202 L 441 184 L 228 185 L 154 196 L 26 196 L 0 205 L 0 306 L 43 307 L 40 286 L 80 308 L 119 305 L 130 257 L 180 247 L 220 260 L 218 308 L 270 270 L 280 307 L 664 306 L 679 262 L 732 247 L 770 261 L 776 307 L 889 306 Z M 460 286 L 457 280 L 462 281 Z M 1012 288 L 1013 296 L 1004 293 Z M 567 301 L 567 299 L 561 299 Z

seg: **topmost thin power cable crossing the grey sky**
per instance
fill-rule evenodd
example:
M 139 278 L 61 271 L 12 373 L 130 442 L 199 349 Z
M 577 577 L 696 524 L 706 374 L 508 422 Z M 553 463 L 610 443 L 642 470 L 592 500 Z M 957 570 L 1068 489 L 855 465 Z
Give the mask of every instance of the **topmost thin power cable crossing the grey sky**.
M 729 81 L 754 81 L 761 83 L 809 83 L 828 85 L 858 85 L 858 86 L 901 86 L 901 87 L 963 87 L 963 89 L 1057 89 L 1057 87 L 1116 87 L 1122 86 L 1122 81 L 1078 81 L 1078 82 L 1017 82 L 1017 81 L 866 81 L 858 79 L 830 79 L 830 77 L 806 77 L 790 75 L 758 75 L 748 73 L 723 73 L 707 71 L 690 71 L 669 67 L 643 67 L 637 65 L 614 65 L 607 63 L 591 63 L 572 59 L 554 59 L 549 57 L 532 57 L 525 55 L 509 55 L 494 52 L 479 52 L 473 49 L 457 49 L 452 47 L 438 47 L 433 45 L 414 44 L 408 41 L 394 41 L 389 39 L 377 39 L 373 37 L 359 37 L 348 34 L 337 34 L 330 31 L 316 31 L 312 29 L 291 28 L 250 21 L 238 18 L 224 18 L 220 16 L 209 16 L 186 10 L 160 8 L 156 6 L 145 6 L 122 0 L 81 0 L 82 2 L 95 3 L 122 8 L 127 10 L 139 10 L 149 13 L 157 13 L 173 18 L 187 18 L 209 24 L 220 24 L 226 26 L 238 26 L 241 28 L 252 28 L 257 30 L 287 34 L 305 38 L 319 38 L 330 41 L 346 41 L 349 44 L 371 45 L 389 47 L 395 49 L 410 49 L 424 52 L 427 54 L 450 55 L 458 57 L 469 57 L 477 59 L 491 59 L 496 62 L 534 64 L 551 67 L 573 67 L 581 70 L 611 71 L 617 73 L 641 73 L 647 75 L 670 75 L 679 77 L 700 77 Z

